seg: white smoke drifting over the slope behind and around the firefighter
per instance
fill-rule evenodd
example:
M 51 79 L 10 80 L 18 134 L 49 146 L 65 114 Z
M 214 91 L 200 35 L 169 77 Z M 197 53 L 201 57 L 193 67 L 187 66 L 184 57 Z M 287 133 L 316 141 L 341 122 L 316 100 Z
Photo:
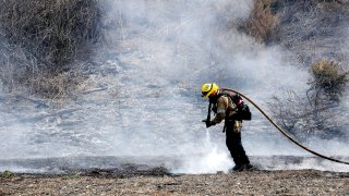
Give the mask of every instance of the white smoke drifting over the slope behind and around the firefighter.
M 0 130 L 5 140 L 0 159 L 165 156 L 180 157 L 179 163 L 169 164 L 172 172 L 228 171 L 233 162 L 222 125 L 207 131 L 201 122 L 207 114 L 201 85 L 216 82 L 239 89 L 263 108 L 284 89 L 306 88 L 308 72 L 286 61 L 287 51 L 256 44 L 236 30 L 234 24 L 248 17 L 251 2 L 105 4 L 106 38 L 112 48 L 99 49 L 96 65 L 84 70 L 89 75 L 76 100 L 60 108 L 38 107 L 27 99 L 0 100 L 1 117 L 8 119 Z M 255 109 L 252 112 L 253 121 L 242 131 L 248 155 L 308 155 L 276 133 Z

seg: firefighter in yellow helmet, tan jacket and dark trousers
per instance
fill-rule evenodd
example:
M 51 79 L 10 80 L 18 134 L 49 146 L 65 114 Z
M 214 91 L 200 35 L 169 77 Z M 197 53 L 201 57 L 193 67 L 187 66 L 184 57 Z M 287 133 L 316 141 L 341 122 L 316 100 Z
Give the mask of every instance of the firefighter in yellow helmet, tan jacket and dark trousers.
M 209 99 L 209 103 L 213 105 L 212 111 L 215 113 L 214 120 L 210 121 L 207 118 L 207 120 L 203 121 L 206 123 L 206 127 L 216 125 L 225 120 L 226 145 L 236 163 L 232 170 L 243 171 L 252 169 L 241 143 L 242 120 L 237 120 L 237 103 L 232 101 L 231 96 L 224 93 L 215 83 L 206 83 L 202 86 L 202 97 Z M 210 112 L 209 110 L 208 112 Z

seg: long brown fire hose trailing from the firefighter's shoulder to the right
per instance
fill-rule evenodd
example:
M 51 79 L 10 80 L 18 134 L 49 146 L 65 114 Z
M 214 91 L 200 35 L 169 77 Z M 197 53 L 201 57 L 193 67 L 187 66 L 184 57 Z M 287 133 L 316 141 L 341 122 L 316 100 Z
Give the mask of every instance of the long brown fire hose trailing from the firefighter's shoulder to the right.
M 265 111 L 257 105 L 255 103 L 252 99 L 250 99 L 248 96 L 241 94 L 240 91 L 237 91 L 237 90 L 233 90 L 233 89 L 230 89 L 230 88 L 225 88 L 225 90 L 229 90 L 229 91 L 232 91 L 232 93 L 236 93 L 236 94 L 239 94 L 241 97 L 245 98 L 249 102 L 251 102 L 256 109 L 260 110 L 260 112 L 279 131 L 281 132 L 281 134 L 287 137 L 289 140 L 291 140 L 292 143 L 294 143 L 297 146 L 303 148 L 304 150 L 317 156 L 317 157 L 321 157 L 321 158 L 324 158 L 324 159 L 327 159 L 327 160 L 330 160 L 330 161 L 334 161 L 334 162 L 339 162 L 339 163 L 344 163 L 344 164 L 349 164 L 348 161 L 342 161 L 342 160 L 338 160 L 338 159 L 334 159 L 334 158 L 330 158 L 330 157 L 327 157 L 327 156 L 324 156 L 324 155 L 321 155 L 314 150 L 311 150 L 309 149 L 308 147 L 303 146 L 302 144 L 300 144 L 299 142 L 297 142 L 296 139 L 293 139 L 287 132 L 285 132 L 269 115 L 267 115 L 265 113 Z

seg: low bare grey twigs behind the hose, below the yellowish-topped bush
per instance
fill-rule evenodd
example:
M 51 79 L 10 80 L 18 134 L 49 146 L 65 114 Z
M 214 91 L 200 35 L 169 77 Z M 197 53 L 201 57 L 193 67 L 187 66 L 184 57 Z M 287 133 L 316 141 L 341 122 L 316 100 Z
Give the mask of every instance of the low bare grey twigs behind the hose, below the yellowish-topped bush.
M 274 118 L 299 142 L 311 137 L 323 139 L 342 138 L 347 119 L 340 108 L 318 105 L 314 108 L 306 99 L 293 91 L 285 93 L 282 98 L 274 97 L 269 103 Z

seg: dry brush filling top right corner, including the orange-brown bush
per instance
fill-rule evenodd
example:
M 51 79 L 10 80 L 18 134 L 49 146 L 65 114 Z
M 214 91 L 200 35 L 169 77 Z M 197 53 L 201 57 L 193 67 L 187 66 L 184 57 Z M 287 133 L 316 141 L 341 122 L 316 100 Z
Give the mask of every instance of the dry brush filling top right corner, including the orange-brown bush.
M 349 61 L 342 49 L 349 1 L 255 0 L 251 10 L 239 29 L 257 42 L 284 46 L 305 66 L 323 58 Z

